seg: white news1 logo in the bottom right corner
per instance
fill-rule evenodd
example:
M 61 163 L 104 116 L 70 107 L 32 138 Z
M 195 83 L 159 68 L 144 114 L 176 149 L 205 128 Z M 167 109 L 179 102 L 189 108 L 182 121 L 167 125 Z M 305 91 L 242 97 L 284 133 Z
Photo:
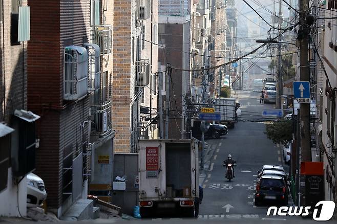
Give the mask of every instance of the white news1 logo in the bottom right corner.
M 319 207 L 321 207 L 321 209 L 319 209 Z M 267 216 L 308 216 L 310 214 L 310 209 L 310 206 L 282 206 L 280 208 L 271 206 L 268 208 Z M 315 205 L 312 218 L 315 221 L 328 221 L 332 218 L 334 209 L 335 203 L 332 200 L 321 200 Z

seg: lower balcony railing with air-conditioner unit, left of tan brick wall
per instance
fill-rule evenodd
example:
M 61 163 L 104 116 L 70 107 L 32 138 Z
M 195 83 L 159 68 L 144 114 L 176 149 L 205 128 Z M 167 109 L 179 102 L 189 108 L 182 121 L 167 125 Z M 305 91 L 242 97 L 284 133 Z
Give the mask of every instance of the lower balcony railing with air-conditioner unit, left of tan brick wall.
M 111 102 L 103 101 L 102 105 L 91 106 L 93 129 L 91 135 L 103 138 L 111 132 Z

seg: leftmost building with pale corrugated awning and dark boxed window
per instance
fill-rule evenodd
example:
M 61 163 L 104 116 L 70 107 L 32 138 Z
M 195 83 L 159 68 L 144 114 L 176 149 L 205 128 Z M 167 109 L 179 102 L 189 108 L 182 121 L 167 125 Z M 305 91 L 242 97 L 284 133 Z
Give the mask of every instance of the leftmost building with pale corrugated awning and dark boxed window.
M 4 0 L 0 7 L 0 216 L 25 216 L 39 118 L 27 111 L 30 10 L 22 0 Z

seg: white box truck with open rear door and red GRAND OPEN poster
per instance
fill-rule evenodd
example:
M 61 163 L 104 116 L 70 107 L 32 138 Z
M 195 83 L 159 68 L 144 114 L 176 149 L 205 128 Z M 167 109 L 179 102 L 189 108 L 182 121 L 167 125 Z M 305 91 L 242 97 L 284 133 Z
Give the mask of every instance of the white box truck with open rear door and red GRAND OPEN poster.
M 139 140 L 138 153 L 141 217 L 198 214 L 198 143 L 192 139 Z

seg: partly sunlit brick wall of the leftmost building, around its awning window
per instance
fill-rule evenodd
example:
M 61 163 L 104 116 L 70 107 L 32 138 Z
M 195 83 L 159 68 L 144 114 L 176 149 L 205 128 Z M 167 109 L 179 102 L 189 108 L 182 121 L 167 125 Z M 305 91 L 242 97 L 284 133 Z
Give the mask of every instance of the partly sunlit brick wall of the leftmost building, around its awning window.
M 27 1 L 22 5 L 27 6 Z M 0 121 L 6 123 L 15 109 L 27 109 L 27 41 L 11 46 L 11 7 L 12 1 L 4 0 L 4 21 L 0 23 Z

